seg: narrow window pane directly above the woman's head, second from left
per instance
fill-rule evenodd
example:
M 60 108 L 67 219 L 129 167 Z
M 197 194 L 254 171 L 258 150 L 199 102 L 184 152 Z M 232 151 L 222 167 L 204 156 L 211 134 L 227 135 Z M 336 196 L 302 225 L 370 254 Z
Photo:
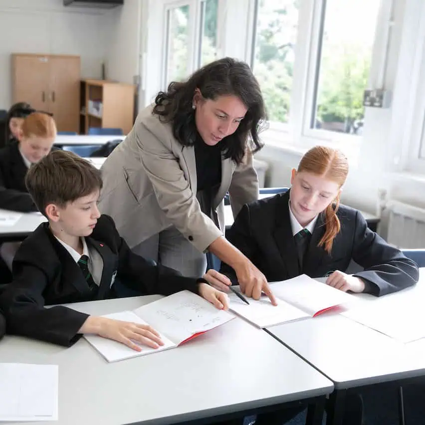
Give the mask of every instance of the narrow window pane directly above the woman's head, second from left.
M 212 62 L 217 55 L 217 9 L 218 0 L 205 0 L 201 3 L 199 66 Z

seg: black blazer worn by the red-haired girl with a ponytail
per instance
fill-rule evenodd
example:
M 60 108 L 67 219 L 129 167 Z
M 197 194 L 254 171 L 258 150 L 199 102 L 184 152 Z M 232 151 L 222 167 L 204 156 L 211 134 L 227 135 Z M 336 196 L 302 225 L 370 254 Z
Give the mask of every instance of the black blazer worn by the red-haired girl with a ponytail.
M 359 211 L 341 205 L 337 215 L 341 231 L 334 239 L 331 254 L 317 246 L 325 233 L 324 217 L 320 214 L 302 270 L 289 217 L 289 191 L 244 205 L 226 232 L 226 238 L 264 273 L 269 282 L 303 273 L 323 277 L 335 270 L 345 271 L 351 259 L 364 268 L 355 276 L 364 279 L 365 292 L 374 295 L 395 292 L 418 281 L 416 263 L 370 230 Z M 220 271 L 235 281 L 235 274 L 227 264 L 222 264 Z

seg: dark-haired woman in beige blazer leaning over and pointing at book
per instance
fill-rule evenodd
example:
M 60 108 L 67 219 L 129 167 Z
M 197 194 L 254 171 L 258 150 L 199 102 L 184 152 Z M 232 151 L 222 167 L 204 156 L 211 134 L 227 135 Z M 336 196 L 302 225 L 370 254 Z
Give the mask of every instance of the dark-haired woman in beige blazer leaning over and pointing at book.
M 101 212 L 145 258 L 202 276 L 209 250 L 233 267 L 247 296 L 269 294 L 264 275 L 223 237 L 225 194 L 235 216 L 258 198 L 252 154 L 265 118 L 244 62 L 219 59 L 172 82 L 105 161 Z

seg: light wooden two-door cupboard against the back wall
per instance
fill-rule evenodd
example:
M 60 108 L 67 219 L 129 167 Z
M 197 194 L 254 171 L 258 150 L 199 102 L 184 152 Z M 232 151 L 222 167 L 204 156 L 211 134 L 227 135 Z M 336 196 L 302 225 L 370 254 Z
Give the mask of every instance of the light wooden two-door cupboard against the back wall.
M 13 53 L 12 99 L 50 112 L 58 131 L 79 132 L 80 57 Z

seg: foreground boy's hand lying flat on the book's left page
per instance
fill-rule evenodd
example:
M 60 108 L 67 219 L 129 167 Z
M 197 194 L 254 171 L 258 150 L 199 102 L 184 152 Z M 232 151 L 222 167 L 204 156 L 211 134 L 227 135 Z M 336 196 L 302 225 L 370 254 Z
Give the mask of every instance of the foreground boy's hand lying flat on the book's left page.
M 141 325 L 107 317 L 89 316 L 79 330 L 79 333 L 94 333 L 103 338 L 118 341 L 136 351 L 142 351 L 134 341 L 151 348 L 164 345 L 159 333 L 149 325 Z

